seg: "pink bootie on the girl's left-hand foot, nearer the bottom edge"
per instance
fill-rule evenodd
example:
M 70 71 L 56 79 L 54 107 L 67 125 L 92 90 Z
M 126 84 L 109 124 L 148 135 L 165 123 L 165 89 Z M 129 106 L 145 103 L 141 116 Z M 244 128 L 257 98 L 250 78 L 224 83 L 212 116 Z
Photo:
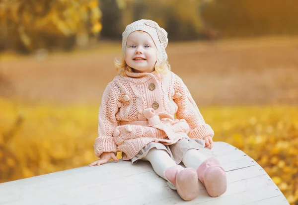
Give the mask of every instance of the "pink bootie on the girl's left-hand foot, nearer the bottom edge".
M 176 187 L 183 200 L 191 201 L 199 195 L 198 175 L 194 168 L 173 166 L 165 170 L 164 176 Z

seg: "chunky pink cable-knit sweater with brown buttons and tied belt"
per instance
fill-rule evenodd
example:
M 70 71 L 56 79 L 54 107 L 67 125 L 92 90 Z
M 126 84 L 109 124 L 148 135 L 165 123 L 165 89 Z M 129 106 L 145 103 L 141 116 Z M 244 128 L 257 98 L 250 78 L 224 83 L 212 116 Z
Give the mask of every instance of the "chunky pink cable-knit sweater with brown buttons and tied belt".
M 117 75 L 103 93 L 94 144 L 97 157 L 122 151 L 129 160 L 152 141 L 173 144 L 182 138 L 214 136 L 186 85 L 172 71 L 126 74 Z

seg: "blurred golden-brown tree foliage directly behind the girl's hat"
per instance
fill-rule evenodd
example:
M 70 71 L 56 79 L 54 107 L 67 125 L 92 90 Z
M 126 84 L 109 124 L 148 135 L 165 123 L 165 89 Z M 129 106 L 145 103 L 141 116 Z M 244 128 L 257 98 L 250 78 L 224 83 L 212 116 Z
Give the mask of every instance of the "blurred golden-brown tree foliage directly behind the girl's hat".
M 190 40 L 205 37 L 200 7 L 212 0 L 126 0 L 126 24 L 152 19 L 168 32 L 169 39 Z

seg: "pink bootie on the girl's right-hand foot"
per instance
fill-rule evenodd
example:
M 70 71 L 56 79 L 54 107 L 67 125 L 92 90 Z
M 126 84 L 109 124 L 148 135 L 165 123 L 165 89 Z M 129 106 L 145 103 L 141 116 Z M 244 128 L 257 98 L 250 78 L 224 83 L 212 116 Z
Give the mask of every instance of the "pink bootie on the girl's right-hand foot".
M 215 157 L 206 159 L 197 169 L 198 178 L 211 197 L 219 197 L 226 191 L 224 168 Z

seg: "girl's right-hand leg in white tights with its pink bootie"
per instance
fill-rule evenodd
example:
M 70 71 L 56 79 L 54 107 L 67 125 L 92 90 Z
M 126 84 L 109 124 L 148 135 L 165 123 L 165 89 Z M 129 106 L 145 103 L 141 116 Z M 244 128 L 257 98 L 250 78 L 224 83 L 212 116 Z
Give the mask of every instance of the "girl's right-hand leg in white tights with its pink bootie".
M 218 197 L 226 191 L 226 176 L 224 168 L 215 157 L 208 158 L 199 150 L 188 149 L 182 158 L 186 167 L 197 170 L 199 180 L 204 184 L 211 197 Z

